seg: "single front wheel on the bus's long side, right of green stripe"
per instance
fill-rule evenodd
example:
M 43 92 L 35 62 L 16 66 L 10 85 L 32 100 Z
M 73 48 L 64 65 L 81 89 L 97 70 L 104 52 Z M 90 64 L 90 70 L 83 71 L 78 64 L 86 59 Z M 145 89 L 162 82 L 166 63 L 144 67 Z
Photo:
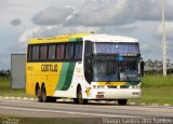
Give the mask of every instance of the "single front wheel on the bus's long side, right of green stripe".
M 82 88 L 81 88 L 81 86 L 78 87 L 77 100 L 75 100 L 75 101 L 77 101 L 79 105 L 88 104 L 88 100 L 82 98 Z

